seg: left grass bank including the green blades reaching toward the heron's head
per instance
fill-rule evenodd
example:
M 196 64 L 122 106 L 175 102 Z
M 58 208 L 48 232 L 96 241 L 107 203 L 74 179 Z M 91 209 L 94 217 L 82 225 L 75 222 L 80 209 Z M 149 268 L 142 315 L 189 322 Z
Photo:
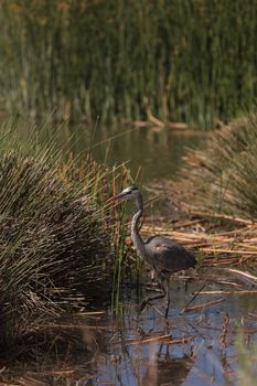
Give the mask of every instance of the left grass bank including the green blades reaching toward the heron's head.
M 92 299 L 108 294 L 107 288 L 110 298 L 114 237 L 119 245 L 119 235 L 106 201 L 114 185 L 130 179 L 125 167 L 110 171 L 90 157 L 64 161 L 62 150 L 41 147 L 34 138 L 21 143 L 13 128 L 1 128 L 3 356 L 19 356 L 30 351 L 29 342 L 35 349 L 36 341 L 45 341 L 47 323 L 77 305 L 76 291 L 88 308 Z

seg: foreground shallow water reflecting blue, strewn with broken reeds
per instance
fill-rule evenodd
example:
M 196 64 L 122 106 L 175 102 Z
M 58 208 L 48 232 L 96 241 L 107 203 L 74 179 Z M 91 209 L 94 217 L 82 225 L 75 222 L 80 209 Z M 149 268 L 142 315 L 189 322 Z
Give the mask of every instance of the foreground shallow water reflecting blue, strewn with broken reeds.
M 62 321 L 67 336 L 77 336 L 79 350 L 56 357 L 52 364 L 28 366 L 22 385 L 235 385 L 237 363 L 234 337 L 236 326 L 256 337 L 256 296 L 200 294 L 191 305 L 224 299 L 223 302 L 180 314 L 202 287 L 202 281 L 173 281 L 172 304 L 163 318 L 165 300 L 149 305 L 141 314 L 139 304 L 149 294 L 149 286 L 125 285 L 121 291 L 121 312 L 92 313 Z M 205 290 L 221 290 L 208 285 Z M 223 288 L 224 289 L 224 288 Z M 225 288 L 226 290 L 228 288 Z M 152 291 L 152 288 L 150 288 Z M 100 311 L 100 310 L 99 310 Z M 227 332 L 224 322 L 227 319 Z M 65 328 L 66 325 L 66 328 Z M 33 383 L 29 383 L 34 382 Z

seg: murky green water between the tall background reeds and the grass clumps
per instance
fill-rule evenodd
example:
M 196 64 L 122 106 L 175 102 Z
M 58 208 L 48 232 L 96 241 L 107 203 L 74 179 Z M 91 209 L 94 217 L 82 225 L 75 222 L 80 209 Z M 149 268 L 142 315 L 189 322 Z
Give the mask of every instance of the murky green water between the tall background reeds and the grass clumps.
M 25 143 L 34 125 L 44 127 L 36 138 L 51 144 L 56 140 L 57 147 L 65 152 L 72 151 L 75 156 L 90 153 L 96 161 L 109 167 L 126 162 L 133 176 L 140 169 L 140 182 L 176 176 L 188 149 L 195 148 L 204 136 L 203 131 L 171 128 L 139 128 L 121 124 L 89 127 L 87 124 L 54 124 L 51 120 L 34 124 L 20 118 L 15 121 L 15 130 L 20 131 Z

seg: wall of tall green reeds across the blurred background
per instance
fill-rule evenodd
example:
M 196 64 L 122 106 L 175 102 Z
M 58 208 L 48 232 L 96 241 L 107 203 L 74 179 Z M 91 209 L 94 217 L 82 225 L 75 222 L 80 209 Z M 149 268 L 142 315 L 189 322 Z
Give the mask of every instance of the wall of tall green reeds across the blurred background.
M 211 127 L 256 97 L 254 0 L 1 0 L 0 108 Z

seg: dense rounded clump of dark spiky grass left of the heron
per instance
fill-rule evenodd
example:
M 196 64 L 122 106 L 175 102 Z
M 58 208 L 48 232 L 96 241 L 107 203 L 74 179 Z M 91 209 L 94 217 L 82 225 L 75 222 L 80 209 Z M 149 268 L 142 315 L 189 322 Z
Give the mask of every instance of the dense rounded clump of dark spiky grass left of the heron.
M 43 159 L 14 152 L 0 159 L 2 332 L 10 320 L 22 326 L 22 317 L 28 324 L 28 314 L 57 312 L 51 289 L 86 290 L 87 283 L 108 276 L 103 264 L 109 235 L 96 207 L 84 200 L 89 201 L 85 192 Z M 13 333 L 0 334 L 0 343 L 7 336 L 13 339 Z

